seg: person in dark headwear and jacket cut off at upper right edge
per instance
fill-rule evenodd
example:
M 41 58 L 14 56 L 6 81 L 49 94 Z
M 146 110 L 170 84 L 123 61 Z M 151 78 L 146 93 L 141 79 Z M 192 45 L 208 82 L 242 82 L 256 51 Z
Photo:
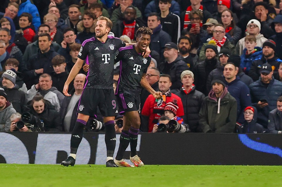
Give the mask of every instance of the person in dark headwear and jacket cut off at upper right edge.
M 274 18 L 271 28 L 275 31 L 275 35 L 269 39 L 276 43 L 276 56 L 282 59 L 282 15 L 277 15 Z

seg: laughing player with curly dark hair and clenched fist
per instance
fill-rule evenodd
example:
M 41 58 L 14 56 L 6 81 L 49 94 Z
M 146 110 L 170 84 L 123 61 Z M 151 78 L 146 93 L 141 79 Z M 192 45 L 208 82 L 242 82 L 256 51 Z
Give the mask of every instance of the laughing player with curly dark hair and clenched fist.
M 120 135 L 115 163 L 123 167 L 132 167 L 124 161 L 123 156 L 130 143 L 130 160 L 136 166 L 144 166 L 137 156 L 136 146 L 140 128 L 140 91 L 141 86 L 150 92 L 156 99 L 161 99 L 162 92 L 156 92 L 146 79 L 147 68 L 151 57 L 144 58 L 142 52 L 150 44 L 152 30 L 147 27 L 139 28 L 136 32 L 135 45 L 121 47 L 116 60 L 120 60 L 120 78 L 116 88 L 116 95 L 120 114 L 123 116 L 123 130 Z

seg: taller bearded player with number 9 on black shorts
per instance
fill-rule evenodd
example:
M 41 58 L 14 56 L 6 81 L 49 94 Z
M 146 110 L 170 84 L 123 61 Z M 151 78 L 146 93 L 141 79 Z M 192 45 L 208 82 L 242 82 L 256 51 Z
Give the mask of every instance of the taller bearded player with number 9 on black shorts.
M 113 161 L 116 143 L 114 120 L 118 113 L 113 91 L 113 67 L 117 49 L 129 44 L 125 44 L 119 38 L 108 36 L 112 26 L 113 23 L 110 19 L 104 16 L 98 18 L 95 27 L 96 36 L 82 43 L 78 59 L 64 85 L 63 93 L 70 96 L 68 86 L 78 74 L 85 60 L 86 64 L 89 65 L 89 71 L 78 104 L 77 121 L 70 139 L 70 156 L 61 163 L 64 166 L 75 164 L 78 145 L 83 137 L 83 128 L 89 116 L 96 114 L 98 106 L 104 116 L 103 121 L 105 123 L 106 167 L 118 167 Z

